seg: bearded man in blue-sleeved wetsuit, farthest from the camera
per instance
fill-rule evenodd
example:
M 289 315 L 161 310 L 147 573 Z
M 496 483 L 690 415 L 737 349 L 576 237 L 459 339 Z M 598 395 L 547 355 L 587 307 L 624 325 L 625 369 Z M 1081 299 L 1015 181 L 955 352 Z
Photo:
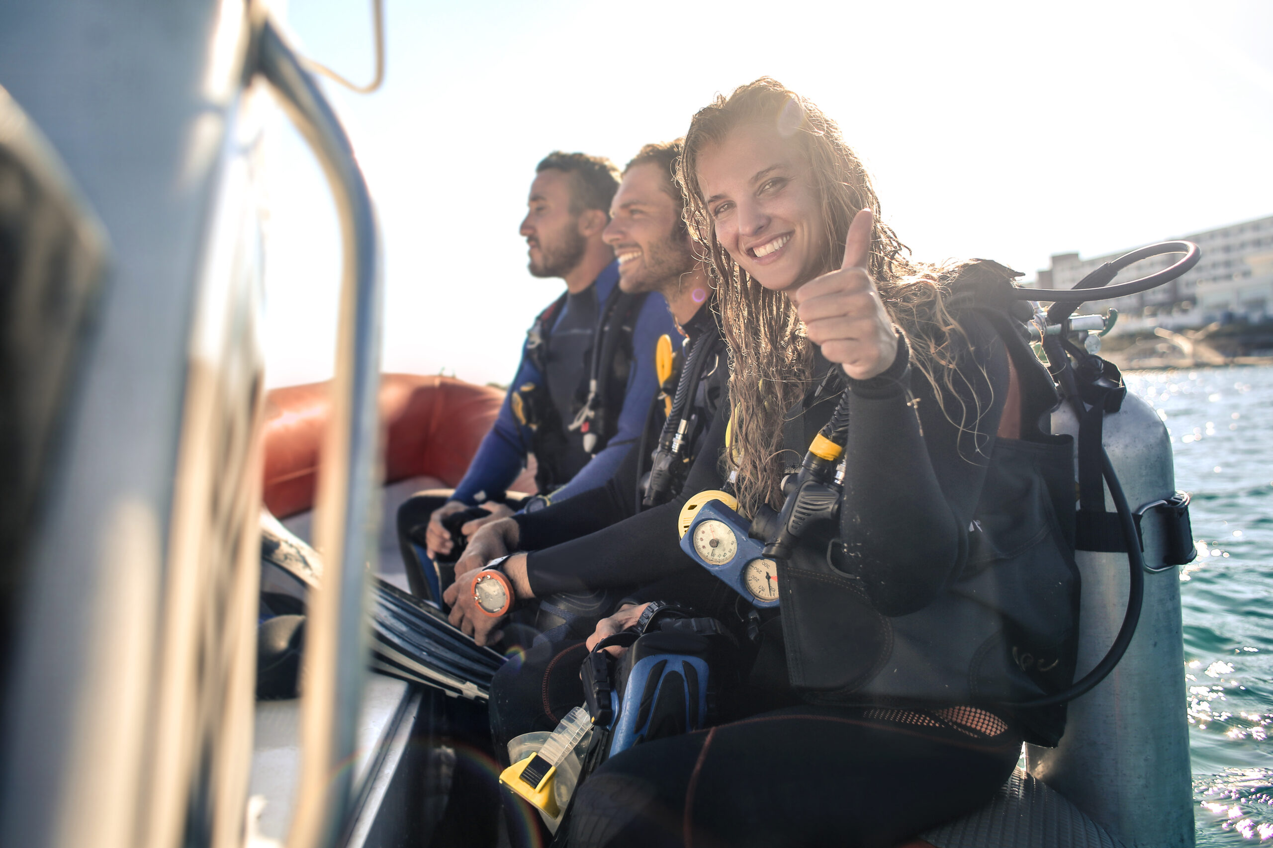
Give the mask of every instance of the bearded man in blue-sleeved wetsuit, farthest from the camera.
M 556 152 L 536 167 L 521 227 L 530 271 L 561 278 L 566 292 L 535 320 L 495 425 L 460 485 L 449 495 L 415 495 L 398 511 L 418 595 L 437 598 L 444 588 L 432 563 L 453 546 L 442 519 L 480 505 L 486 514 L 462 526 L 467 536 L 512 514 L 521 504 L 504 503 L 507 488 L 528 453 L 537 465 L 536 500 L 545 505 L 602 485 L 640 437 L 657 390 L 654 346 L 672 321 L 659 295 L 617 290 L 614 250 L 603 239 L 617 186 L 617 168 L 601 157 Z

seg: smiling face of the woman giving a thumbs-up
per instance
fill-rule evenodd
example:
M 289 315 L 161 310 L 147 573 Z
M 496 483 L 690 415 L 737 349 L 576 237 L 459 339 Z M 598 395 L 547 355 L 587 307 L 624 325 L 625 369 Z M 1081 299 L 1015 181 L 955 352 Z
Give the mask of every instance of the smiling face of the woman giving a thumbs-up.
M 736 127 L 699 154 L 698 178 L 717 239 L 763 286 L 791 294 L 831 270 L 811 168 L 777 130 Z

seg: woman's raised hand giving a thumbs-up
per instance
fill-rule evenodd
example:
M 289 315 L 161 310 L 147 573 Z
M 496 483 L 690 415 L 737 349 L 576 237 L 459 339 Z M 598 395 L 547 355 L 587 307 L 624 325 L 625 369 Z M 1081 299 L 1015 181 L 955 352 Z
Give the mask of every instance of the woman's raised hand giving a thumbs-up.
M 792 295 L 810 340 L 854 379 L 871 379 L 897 358 L 897 332 L 867 270 L 873 222 L 869 209 L 859 211 L 844 239 L 840 270 L 806 283 Z

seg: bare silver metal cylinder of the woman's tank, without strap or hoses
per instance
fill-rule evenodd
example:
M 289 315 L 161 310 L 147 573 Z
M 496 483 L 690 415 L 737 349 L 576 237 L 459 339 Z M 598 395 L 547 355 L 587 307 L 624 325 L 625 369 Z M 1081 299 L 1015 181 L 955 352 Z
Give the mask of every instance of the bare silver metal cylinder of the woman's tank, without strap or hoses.
M 1074 435 L 1063 404 L 1053 433 Z M 1130 393 L 1108 414 L 1104 444 L 1133 511 L 1175 494 L 1166 427 Z M 1077 467 L 1077 466 L 1076 466 Z M 1106 489 L 1106 503 L 1111 503 Z M 1108 507 L 1111 508 L 1111 507 Z M 1164 562 L 1165 523 L 1142 521 L 1146 568 Z M 1077 551 L 1082 574 L 1078 670 L 1082 677 L 1114 642 L 1128 598 L 1127 554 Z M 1194 844 L 1189 735 L 1185 717 L 1180 581 L 1175 567 L 1144 574 L 1144 605 L 1127 653 L 1092 691 L 1069 703 L 1066 735 L 1054 749 L 1027 747 L 1027 768 L 1129 848 Z

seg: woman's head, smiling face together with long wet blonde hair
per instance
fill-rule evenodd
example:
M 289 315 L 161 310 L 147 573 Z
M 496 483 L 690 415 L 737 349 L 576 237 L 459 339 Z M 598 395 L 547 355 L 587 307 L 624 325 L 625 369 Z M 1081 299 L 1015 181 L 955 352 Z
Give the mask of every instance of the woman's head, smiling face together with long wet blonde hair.
M 740 502 L 750 509 L 778 505 L 780 419 L 805 392 L 813 362 L 797 304 L 784 293 L 841 266 L 845 233 L 858 211 L 872 213 L 868 247 L 858 258 L 883 299 L 913 320 L 919 336 L 933 335 L 923 330 L 922 307 L 948 321 L 934 298 L 934 278 L 917 275 L 909 248 L 881 223 L 871 178 L 839 129 L 777 83 L 759 80 L 701 110 L 680 176 L 695 237 L 733 281 L 721 290 L 721 312 L 736 351 L 729 391 L 742 456 Z M 927 374 L 941 344 L 920 344 L 913 364 Z

